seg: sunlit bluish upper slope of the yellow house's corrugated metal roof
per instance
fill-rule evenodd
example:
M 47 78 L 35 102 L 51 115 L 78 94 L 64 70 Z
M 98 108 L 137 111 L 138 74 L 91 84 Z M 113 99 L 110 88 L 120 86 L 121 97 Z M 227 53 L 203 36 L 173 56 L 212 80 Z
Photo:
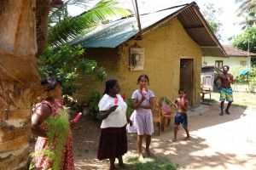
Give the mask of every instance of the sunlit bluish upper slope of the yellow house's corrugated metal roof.
M 159 20 L 166 18 L 168 15 L 175 13 L 178 9 L 170 8 L 157 13 L 142 14 L 140 21 L 142 29 L 154 25 Z M 72 44 L 81 44 L 84 48 L 115 48 L 122 42 L 126 42 L 138 33 L 137 18 L 135 16 L 117 20 L 107 25 L 98 26 L 95 30 L 79 37 L 71 42 Z

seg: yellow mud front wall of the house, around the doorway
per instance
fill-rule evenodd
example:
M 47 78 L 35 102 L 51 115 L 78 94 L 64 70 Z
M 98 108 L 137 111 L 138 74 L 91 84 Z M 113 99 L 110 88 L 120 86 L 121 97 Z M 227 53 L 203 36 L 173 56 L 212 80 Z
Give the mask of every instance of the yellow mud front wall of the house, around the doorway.
M 129 63 L 129 49 L 137 43 L 144 48 L 143 71 L 130 71 L 125 63 Z M 122 94 L 131 97 L 137 88 L 137 77 L 147 74 L 150 80 L 149 88 L 155 96 L 177 98 L 179 88 L 180 59 L 195 59 L 195 103 L 200 103 L 201 81 L 201 48 L 183 29 L 179 20 L 172 19 L 143 35 L 141 41 L 130 41 L 120 48 L 119 82 Z

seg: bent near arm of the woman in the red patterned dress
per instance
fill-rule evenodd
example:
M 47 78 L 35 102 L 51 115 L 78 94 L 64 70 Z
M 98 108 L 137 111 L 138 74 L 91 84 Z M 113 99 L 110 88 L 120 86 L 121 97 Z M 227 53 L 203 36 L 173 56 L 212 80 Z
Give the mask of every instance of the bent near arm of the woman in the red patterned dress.
M 42 104 L 39 109 L 41 109 L 41 111 L 36 111 L 32 115 L 31 131 L 37 136 L 46 138 L 46 131 L 41 127 L 41 124 L 48 116 L 50 116 L 51 110 L 48 105 L 44 104 Z

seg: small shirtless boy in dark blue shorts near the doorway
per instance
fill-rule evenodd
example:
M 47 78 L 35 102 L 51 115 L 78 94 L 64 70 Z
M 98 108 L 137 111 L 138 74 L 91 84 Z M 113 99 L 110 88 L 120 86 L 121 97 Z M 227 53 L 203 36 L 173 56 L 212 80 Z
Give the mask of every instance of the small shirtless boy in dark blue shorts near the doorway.
M 185 140 L 190 139 L 189 136 L 189 129 L 188 129 L 188 116 L 187 116 L 187 111 L 188 111 L 188 106 L 189 106 L 189 101 L 185 99 L 186 96 L 186 89 L 185 88 L 180 88 L 178 90 L 178 97 L 175 100 L 175 105 L 177 107 L 177 113 L 175 114 L 175 122 L 174 122 L 174 139 L 172 142 L 177 141 L 177 130 L 178 130 L 178 125 L 181 123 L 183 128 L 185 129 L 187 133 L 187 137 Z

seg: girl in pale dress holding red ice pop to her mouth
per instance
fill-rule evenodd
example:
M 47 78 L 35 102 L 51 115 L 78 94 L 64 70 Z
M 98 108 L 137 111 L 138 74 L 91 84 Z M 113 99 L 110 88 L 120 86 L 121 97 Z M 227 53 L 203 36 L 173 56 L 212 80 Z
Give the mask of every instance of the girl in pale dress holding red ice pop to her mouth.
M 143 136 L 146 136 L 146 153 L 153 156 L 149 150 L 151 135 L 154 133 L 152 109 L 154 106 L 154 94 L 147 88 L 149 79 L 147 75 L 137 78 L 139 88 L 131 96 L 135 111 L 132 113 L 134 127 L 137 131 L 138 160 L 143 161 Z M 129 130 L 128 130 L 129 132 Z

